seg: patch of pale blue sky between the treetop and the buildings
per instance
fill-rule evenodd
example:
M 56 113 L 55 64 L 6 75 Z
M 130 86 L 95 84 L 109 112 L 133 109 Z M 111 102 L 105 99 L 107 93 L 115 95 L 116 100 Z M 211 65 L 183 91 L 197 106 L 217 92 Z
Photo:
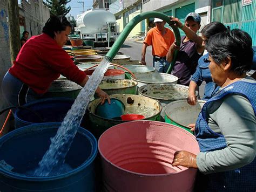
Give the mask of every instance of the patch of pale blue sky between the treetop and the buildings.
M 78 14 L 83 13 L 83 4 L 82 3 L 78 3 L 78 2 L 84 2 L 84 10 L 85 11 L 87 9 L 91 9 L 92 8 L 92 0 L 71 0 L 71 2 L 66 5 L 66 6 L 70 6 L 71 7 L 71 10 L 67 14 L 67 16 L 68 15 L 72 15 L 76 19 Z

